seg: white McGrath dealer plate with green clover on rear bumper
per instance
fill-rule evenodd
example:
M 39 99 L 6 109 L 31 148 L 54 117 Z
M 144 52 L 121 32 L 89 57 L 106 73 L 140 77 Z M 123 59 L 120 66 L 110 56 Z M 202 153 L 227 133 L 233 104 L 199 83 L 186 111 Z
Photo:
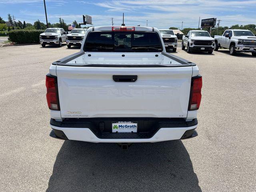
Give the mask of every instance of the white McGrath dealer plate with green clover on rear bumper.
M 131 121 L 118 121 L 112 122 L 112 132 L 137 132 L 138 122 L 131 122 Z

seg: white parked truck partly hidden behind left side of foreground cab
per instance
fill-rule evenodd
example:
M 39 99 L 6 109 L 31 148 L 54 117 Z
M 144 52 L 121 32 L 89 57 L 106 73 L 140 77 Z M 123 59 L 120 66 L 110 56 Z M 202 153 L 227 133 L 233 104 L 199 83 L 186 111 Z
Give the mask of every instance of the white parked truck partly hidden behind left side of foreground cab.
M 84 40 L 84 36 L 87 29 L 84 28 L 75 28 L 66 36 L 66 43 L 68 48 L 74 46 L 81 46 Z

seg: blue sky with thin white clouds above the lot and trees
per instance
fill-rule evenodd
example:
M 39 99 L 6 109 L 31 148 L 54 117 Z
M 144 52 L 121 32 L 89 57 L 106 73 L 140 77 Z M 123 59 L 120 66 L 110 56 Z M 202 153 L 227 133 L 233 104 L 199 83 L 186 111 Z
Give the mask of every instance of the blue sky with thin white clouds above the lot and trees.
M 92 16 L 94 26 L 125 24 L 169 28 L 198 27 L 199 17 L 222 20 L 220 26 L 256 24 L 256 0 L 46 0 L 48 22 L 61 17 L 67 24 L 82 22 L 82 15 Z M 16 20 L 46 23 L 43 0 L 0 0 L 0 16 L 10 13 Z M 237 21 L 237 22 L 233 22 Z

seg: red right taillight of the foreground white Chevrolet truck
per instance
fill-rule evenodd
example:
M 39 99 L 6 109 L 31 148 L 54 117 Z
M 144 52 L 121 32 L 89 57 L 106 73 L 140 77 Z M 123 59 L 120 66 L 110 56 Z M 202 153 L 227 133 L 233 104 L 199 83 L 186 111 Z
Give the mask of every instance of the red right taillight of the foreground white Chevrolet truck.
M 201 102 L 202 76 L 192 78 L 188 110 L 198 110 Z

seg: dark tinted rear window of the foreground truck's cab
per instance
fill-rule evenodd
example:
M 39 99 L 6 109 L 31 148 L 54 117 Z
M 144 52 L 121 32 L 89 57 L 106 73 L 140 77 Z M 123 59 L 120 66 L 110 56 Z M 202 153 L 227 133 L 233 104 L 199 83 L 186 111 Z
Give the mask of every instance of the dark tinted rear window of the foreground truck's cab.
M 90 32 L 84 51 L 92 52 L 161 52 L 156 32 Z

